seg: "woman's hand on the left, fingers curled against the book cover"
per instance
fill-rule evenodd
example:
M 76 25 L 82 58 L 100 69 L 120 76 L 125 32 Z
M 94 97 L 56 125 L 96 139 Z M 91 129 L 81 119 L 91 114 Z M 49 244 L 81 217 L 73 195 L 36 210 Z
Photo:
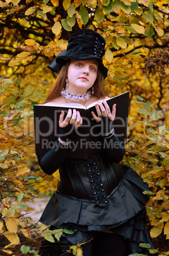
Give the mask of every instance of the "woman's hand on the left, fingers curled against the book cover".
M 62 111 L 60 114 L 60 118 L 58 121 L 58 125 L 60 128 L 67 127 L 69 124 L 74 124 L 74 127 L 76 129 L 79 128 L 83 124 L 83 119 L 79 113 L 79 111 L 76 111 L 75 109 L 72 111 L 71 109 L 68 110 L 67 115 L 64 119 L 65 113 Z

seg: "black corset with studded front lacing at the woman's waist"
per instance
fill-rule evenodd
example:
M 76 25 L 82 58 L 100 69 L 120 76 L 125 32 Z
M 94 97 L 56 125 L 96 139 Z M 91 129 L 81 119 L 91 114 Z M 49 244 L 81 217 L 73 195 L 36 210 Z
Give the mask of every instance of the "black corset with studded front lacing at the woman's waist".
M 107 204 L 107 198 L 125 175 L 123 166 L 110 162 L 105 155 L 87 160 L 65 159 L 59 170 L 58 192 L 100 206 Z

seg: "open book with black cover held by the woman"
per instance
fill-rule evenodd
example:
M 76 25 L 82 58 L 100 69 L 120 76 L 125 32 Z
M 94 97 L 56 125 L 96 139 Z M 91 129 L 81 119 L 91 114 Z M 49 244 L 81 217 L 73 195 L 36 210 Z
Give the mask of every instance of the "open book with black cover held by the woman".
M 125 143 L 128 126 L 128 106 L 129 92 L 119 94 L 118 96 L 107 99 L 107 104 L 112 110 L 113 104 L 116 104 L 116 117 L 113 121 L 114 131 L 119 140 Z M 34 105 L 34 127 L 36 155 L 43 155 L 52 148 L 59 136 L 58 119 L 61 111 L 65 112 L 75 108 L 83 118 L 83 124 L 75 129 L 71 143 L 67 146 L 67 157 L 88 159 L 102 151 L 102 142 L 100 122 L 96 123 L 91 115 L 94 111 L 97 115 L 95 104 L 90 104 L 87 108 L 78 103 L 70 104 L 39 104 Z M 106 139 L 105 139 L 106 140 Z

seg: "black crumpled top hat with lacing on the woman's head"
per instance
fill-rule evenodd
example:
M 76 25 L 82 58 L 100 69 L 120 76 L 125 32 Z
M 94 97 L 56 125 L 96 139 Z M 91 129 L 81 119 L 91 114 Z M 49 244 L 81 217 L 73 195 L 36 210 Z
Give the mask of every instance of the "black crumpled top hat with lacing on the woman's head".
M 59 72 L 67 60 L 88 60 L 95 59 L 104 78 L 107 76 L 102 57 L 105 53 L 105 39 L 91 29 L 81 29 L 72 34 L 68 40 L 67 50 L 59 53 L 57 57 L 48 66 L 54 72 Z

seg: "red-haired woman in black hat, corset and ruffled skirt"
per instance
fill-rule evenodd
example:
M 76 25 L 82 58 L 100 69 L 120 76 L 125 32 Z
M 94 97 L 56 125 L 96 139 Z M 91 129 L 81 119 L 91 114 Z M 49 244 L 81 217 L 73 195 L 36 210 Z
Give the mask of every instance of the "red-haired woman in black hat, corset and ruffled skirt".
M 45 173 L 52 174 L 58 168 L 60 171 L 57 191 L 40 222 L 50 225 L 51 230 L 71 229 L 74 233 L 64 233 L 60 242 L 55 239 L 55 244 L 44 241 L 39 255 L 72 255 L 67 253 L 69 246 L 85 242 L 88 243 L 83 246 L 84 256 L 144 253 L 139 243 L 152 245 L 145 229 L 147 196 L 142 194 L 149 188 L 133 169 L 119 164 L 125 148 L 112 125 L 116 104 L 110 110 L 102 87 L 107 76 L 102 63 L 105 40 L 95 31 L 82 29 L 68 42 L 67 50 L 49 67 L 59 74 L 44 104 L 75 101 L 87 107 L 95 103 L 96 112 L 91 112 L 91 118 L 98 125 L 97 140 L 102 147 L 90 149 L 88 159 L 77 159 L 76 151 L 73 157 L 67 157 L 72 150 L 71 142 L 75 138 L 81 140 L 77 131 L 82 129 L 84 120 L 76 109 L 70 109 L 67 114 L 62 111 L 55 146 L 38 156 Z M 112 148 L 106 146 L 109 142 L 114 145 Z M 145 251 L 145 255 L 149 253 Z

